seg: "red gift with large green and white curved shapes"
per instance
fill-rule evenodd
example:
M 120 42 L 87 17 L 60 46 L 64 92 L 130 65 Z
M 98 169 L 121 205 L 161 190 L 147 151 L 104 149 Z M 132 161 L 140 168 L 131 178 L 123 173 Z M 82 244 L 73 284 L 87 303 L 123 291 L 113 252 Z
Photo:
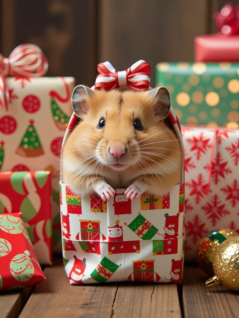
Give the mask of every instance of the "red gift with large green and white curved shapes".
M 0 172 L 0 213 L 22 213 L 41 265 L 52 264 L 50 175 L 49 171 Z

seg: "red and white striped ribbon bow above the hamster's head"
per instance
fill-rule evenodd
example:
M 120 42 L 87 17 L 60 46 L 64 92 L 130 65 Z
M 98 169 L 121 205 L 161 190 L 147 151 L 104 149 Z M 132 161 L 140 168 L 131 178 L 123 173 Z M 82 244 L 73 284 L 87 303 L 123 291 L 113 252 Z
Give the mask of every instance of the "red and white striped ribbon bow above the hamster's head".
M 109 91 L 114 88 L 129 86 L 135 91 L 146 91 L 150 84 L 148 72 L 151 67 L 144 60 L 139 60 L 125 71 L 116 71 L 110 62 L 97 66 L 99 75 L 95 81 L 95 89 L 104 88 Z

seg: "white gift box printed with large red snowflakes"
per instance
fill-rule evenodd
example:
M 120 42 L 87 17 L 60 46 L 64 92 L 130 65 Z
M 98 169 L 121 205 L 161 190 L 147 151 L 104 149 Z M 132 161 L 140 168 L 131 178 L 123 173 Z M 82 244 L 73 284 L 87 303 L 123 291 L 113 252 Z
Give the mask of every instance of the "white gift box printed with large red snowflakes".
M 182 127 L 185 154 L 185 258 L 196 261 L 213 229 L 239 232 L 239 129 Z

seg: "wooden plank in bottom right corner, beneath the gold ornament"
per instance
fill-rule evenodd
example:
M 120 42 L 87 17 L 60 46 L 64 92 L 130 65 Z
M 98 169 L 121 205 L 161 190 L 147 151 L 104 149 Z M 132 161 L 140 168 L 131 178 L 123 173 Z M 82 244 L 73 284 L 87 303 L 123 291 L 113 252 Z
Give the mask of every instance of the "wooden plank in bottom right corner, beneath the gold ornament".
M 185 318 L 239 317 L 239 293 L 222 285 L 207 288 L 209 277 L 199 267 L 186 267 L 183 280 Z

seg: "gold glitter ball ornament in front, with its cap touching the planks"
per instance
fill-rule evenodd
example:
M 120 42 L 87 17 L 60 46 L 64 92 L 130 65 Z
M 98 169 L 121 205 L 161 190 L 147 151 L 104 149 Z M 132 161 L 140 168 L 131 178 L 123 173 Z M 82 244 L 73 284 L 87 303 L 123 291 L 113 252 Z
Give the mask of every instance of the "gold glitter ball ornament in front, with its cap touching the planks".
M 213 270 L 215 275 L 205 282 L 207 287 L 222 284 L 239 291 L 239 236 L 227 239 L 218 246 L 213 257 Z

